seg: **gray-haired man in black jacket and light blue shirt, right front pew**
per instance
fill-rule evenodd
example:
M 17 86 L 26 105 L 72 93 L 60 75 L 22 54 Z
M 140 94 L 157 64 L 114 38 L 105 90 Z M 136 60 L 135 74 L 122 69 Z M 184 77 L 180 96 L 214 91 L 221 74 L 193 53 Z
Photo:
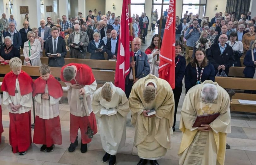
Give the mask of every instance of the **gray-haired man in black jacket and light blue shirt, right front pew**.
M 229 68 L 233 64 L 233 49 L 226 44 L 228 36 L 225 34 L 220 35 L 218 38 L 219 43 L 215 43 L 210 47 L 207 52 L 209 62 L 215 68 L 215 75 L 221 71 L 225 71 L 226 75 L 229 74 Z

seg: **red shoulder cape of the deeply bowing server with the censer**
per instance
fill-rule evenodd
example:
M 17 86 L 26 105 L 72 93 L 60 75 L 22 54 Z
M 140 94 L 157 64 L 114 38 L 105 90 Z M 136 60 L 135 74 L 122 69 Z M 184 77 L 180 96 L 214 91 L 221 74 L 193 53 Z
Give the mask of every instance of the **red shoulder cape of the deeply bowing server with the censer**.
M 81 64 L 81 63 L 69 63 L 69 64 L 63 66 L 61 68 L 61 81 L 69 82 L 71 84 L 76 84 L 74 79 L 71 81 L 66 81 L 66 80 L 64 80 L 64 77 L 63 77 L 63 70 L 67 66 L 72 66 L 72 65 L 76 66 L 76 68 L 77 68 L 77 74 L 76 74 L 75 79 L 78 84 L 91 85 L 95 81 L 95 78 L 94 78 L 94 75 L 92 74 L 91 68 L 88 65 Z

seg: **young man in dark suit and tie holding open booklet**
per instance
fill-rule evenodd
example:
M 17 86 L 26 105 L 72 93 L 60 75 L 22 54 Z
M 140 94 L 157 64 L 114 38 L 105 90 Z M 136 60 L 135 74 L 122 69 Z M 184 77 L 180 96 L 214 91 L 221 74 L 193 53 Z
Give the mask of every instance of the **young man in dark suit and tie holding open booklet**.
M 65 40 L 61 37 L 58 37 L 59 29 L 57 27 L 52 27 L 51 35 L 52 38 L 49 38 L 45 44 L 45 56 L 49 57 L 48 64 L 50 67 L 63 67 L 64 66 L 64 58 L 66 57 L 67 50 Z M 56 56 L 49 55 L 57 54 Z

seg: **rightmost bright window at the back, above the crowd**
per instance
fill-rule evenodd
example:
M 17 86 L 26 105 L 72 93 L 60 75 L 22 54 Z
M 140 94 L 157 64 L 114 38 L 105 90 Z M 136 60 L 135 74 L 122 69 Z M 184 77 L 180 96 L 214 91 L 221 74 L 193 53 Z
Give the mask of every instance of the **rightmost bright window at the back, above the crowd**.
M 205 15 L 206 2 L 207 0 L 183 0 L 181 17 L 183 18 L 186 11 L 189 11 L 189 13 L 198 14 L 199 18 L 202 18 Z

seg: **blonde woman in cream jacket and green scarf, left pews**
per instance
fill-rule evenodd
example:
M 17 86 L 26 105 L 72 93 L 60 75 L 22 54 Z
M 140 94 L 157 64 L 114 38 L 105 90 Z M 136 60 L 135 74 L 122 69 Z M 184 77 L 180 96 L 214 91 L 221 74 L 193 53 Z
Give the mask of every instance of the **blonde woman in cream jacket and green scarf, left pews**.
M 35 33 L 33 31 L 27 32 L 27 39 L 28 41 L 24 43 L 23 48 L 23 54 L 25 57 L 24 65 L 41 66 L 41 43 L 38 40 L 35 40 Z

